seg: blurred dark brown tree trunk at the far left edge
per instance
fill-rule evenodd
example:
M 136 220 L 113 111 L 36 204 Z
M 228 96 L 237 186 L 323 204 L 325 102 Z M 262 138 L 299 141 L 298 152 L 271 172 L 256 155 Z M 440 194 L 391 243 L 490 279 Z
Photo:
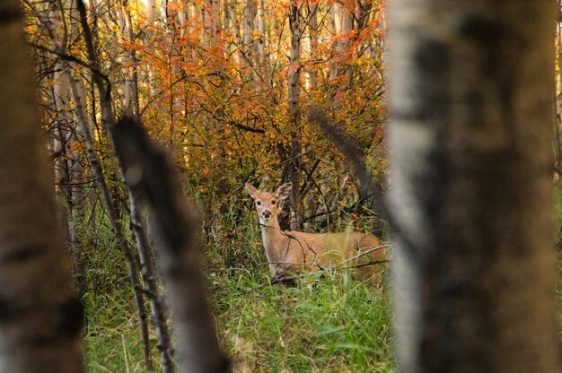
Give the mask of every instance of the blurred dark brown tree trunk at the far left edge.
M 0 372 L 82 372 L 83 311 L 57 223 L 19 3 L 0 5 Z

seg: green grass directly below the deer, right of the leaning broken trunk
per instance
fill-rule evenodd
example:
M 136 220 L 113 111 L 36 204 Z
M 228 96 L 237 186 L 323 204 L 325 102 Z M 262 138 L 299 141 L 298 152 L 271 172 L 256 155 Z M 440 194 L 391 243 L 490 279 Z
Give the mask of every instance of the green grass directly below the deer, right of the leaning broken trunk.
M 235 369 L 392 370 L 387 295 L 346 275 L 312 275 L 297 287 L 260 286 L 239 273 L 215 283 L 221 335 Z

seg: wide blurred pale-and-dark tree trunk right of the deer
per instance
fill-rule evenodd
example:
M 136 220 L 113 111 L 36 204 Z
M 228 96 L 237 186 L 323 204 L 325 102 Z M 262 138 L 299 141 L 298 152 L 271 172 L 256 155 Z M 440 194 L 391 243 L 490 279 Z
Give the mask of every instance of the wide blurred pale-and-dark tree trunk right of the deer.
M 391 6 L 391 224 L 403 372 L 559 372 L 556 3 Z

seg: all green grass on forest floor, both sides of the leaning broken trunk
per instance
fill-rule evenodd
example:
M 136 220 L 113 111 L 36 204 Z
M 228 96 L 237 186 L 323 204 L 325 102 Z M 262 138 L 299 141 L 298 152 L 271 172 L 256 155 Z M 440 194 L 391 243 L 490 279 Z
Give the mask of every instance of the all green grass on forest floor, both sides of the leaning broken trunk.
M 244 270 L 209 278 L 219 337 L 234 371 L 393 370 L 386 291 L 343 273 L 318 277 L 296 287 L 270 285 L 265 273 Z M 87 298 L 86 305 L 88 371 L 144 371 L 130 291 L 115 289 Z

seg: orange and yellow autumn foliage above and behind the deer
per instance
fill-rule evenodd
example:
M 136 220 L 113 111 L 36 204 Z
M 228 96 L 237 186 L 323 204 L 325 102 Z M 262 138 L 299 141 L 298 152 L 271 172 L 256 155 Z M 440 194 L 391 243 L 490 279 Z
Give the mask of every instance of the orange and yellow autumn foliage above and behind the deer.
M 72 10 L 59 12 L 55 3 L 50 9 L 45 4 L 27 5 L 27 30 L 31 42 L 40 47 L 40 82 L 51 109 L 46 123 L 59 126 L 65 117 L 72 126 L 72 100 L 66 115 L 49 105 L 53 87 L 62 82 L 48 68 L 61 58 L 56 52 L 71 61 L 86 60 L 79 25 L 61 20 L 60 14 L 72 16 Z M 291 6 L 298 13 L 295 22 L 300 30 L 294 61 L 289 57 Z M 90 4 L 89 20 L 116 112 L 119 115 L 130 105 L 127 83 L 134 76 L 142 122 L 173 152 L 189 194 L 222 204 L 224 195 L 244 181 L 273 184 L 282 176 L 288 178 L 284 169 L 296 156 L 301 194 L 309 195 L 304 206 L 316 213 L 320 204 L 331 203 L 342 188 L 353 190 L 353 185 L 334 146 L 306 119 L 309 107 L 325 110 L 353 137 L 375 174 L 385 168 L 382 11 L 383 4 L 376 1 L 173 1 L 156 4 L 149 13 L 140 2 L 107 2 Z M 75 76 L 88 86 L 90 73 L 84 65 L 73 64 Z M 299 78 L 298 120 L 289 110 L 291 72 Z M 96 98 L 86 94 L 103 148 Z M 299 154 L 291 152 L 294 134 Z M 79 136 L 75 142 L 80 142 Z M 68 146 L 79 147 L 74 142 Z

